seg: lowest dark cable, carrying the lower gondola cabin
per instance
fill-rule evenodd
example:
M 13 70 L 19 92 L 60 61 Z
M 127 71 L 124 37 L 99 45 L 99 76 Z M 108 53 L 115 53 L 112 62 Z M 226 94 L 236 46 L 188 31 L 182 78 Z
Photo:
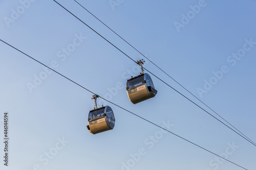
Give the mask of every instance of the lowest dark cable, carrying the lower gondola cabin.
M 71 81 L 72 83 L 74 83 L 74 84 L 80 86 L 81 88 L 83 88 L 83 89 L 85 89 L 85 90 L 91 92 L 92 94 L 96 94 L 96 93 L 94 93 L 93 91 L 87 89 L 86 87 L 83 87 L 82 85 L 76 83 L 75 81 L 69 79 L 68 77 L 66 77 L 66 76 L 64 76 L 64 75 L 62 75 L 62 74 L 60 74 L 58 71 L 55 71 L 54 69 L 50 68 L 49 66 L 45 65 L 44 63 L 42 63 L 42 62 L 36 60 L 35 58 L 29 56 L 29 55 L 26 54 L 26 53 L 24 53 L 24 52 L 18 50 L 18 48 L 16 48 L 16 47 L 10 45 L 9 43 L 3 41 L 2 39 L 0 39 L 0 41 L 4 42 L 5 44 L 7 44 L 7 45 L 9 45 L 10 47 L 14 48 L 16 51 L 18 51 L 18 52 L 24 54 L 25 56 L 29 57 L 30 59 L 32 59 L 32 60 L 38 62 L 39 64 L 44 65 L 45 67 L 51 69 L 52 71 L 56 72 L 56 74 L 58 74 L 58 75 L 62 76 L 63 78 L 65 78 L 65 79 Z M 189 142 L 189 143 L 191 143 L 191 144 L 193 144 L 193 145 L 196 145 L 197 147 L 199 147 L 199 148 L 201 148 L 201 149 L 203 149 L 203 150 L 205 150 L 205 151 L 207 151 L 207 152 L 209 152 L 209 153 L 211 153 L 211 154 L 213 154 L 213 155 L 215 155 L 215 156 L 218 156 L 218 157 L 220 157 L 220 158 L 222 158 L 222 159 L 224 159 L 224 160 L 226 160 L 226 161 L 228 161 L 228 162 L 230 162 L 230 163 L 232 163 L 232 164 L 234 164 L 234 165 L 237 165 L 237 166 L 239 166 L 239 167 L 241 167 L 241 168 L 243 168 L 243 169 L 246 169 L 245 167 L 243 167 L 243 166 L 241 166 L 241 165 L 239 165 L 239 164 L 237 164 L 237 163 L 234 163 L 234 162 L 232 162 L 232 161 L 230 161 L 230 160 L 228 160 L 228 159 L 226 159 L 226 158 L 224 158 L 224 157 L 222 157 L 222 156 L 219 156 L 219 155 L 215 154 L 214 152 L 211 152 L 211 151 L 209 151 L 209 150 L 207 150 L 207 149 L 201 147 L 200 145 L 198 145 L 198 144 L 196 144 L 196 143 L 194 143 L 194 142 L 191 142 L 191 141 L 188 140 L 188 139 L 185 139 L 184 137 L 181 137 L 181 136 L 179 136 L 179 135 L 177 135 L 177 134 L 175 134 L 175 133 L 173 133 L 173 132 L 171 132 L 171 131 L 169 131 L 169 130 L 167 130 L 167 129 L 165 129 L 165 128 L 162 128 L 161 126 L 159 126 L 159 125 L 157 125 L 157 124 L 151 122 L 150 120 L 147 120 L 146 118 L 143 118 L 143 117 L 139 116 L 138 114 L 135 114 L 135 113 L 133 113 L 133 112 L 131 112 L 131 111 L 129 111 L 129 110 L 127 110 L 127 109 L 125 109 L 125 108 L 123 108 L 123 107 L 121 107 L 121 106 L 119 106 L 119 105 L 117 105 L 117 104 L 115 104 L 115 103 L 113 103 L 113 102 L 111 102 L 111 101 L 109 101 L 109 100 L 106 100 L 106 99 L 102 98 L 102 97 L 99 96 L 99 95 L 97 95 L 97 96 L 98 96 L 99 98 L 105 100 L 106 102 L 109 102 L 109 103 L 111 103 L 111 104 L 113 104 L 113 105 L 115 105 L 115 106 L 117 106 L 117 107 L 119 107 L 119 108 L 125 110 L 126 112 L 129 112 L 129 113 L 131 113 L 131 114 L 133 114 L 133 115 L 135 115 L 135 116 L 137 116 L 137 117 L 139 117 L 139 118 L 145 120 L 146 122 L 148 122 L 148 123 L 150 123 L 150 124 L 152 124 L 152 125 L 155 125 L 156 127 L 159 127 L 159 128 L 161 128 L 161 129 L 163 129 L 163 130 L 165 130 L 165 131 L 167 131 L 167 132 L 169 132 L 169 133 L 171 133 L 171 134 L 173 134 L 173 135 L 175 135 L 175 136 L 177 136 L 177 137 L 179 137 L 179 138 L 181 138 L 181 139 L 183 139 L 183 140 L 185 140 L 185 141 L 187 141 L 187 142 Z M 246 169 L 246 170 L 248 170 L 248 169 Z

